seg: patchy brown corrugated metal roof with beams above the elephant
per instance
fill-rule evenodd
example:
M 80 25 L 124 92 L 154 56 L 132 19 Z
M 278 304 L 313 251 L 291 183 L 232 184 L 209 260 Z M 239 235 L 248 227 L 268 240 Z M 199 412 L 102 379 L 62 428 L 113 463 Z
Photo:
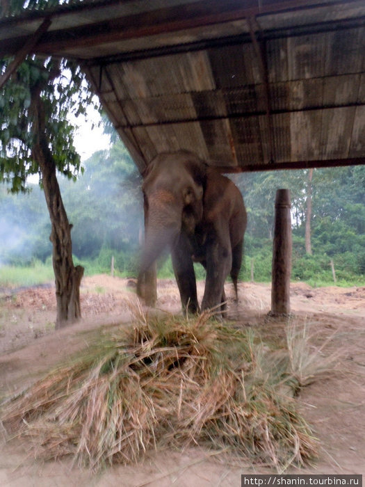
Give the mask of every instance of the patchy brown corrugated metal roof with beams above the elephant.
M 83 65 L 140 170 L 177 149 L 226 171 L 364 163 L 363 0 L 72 7 L 33 50 Z M 0 56 L 45 17 L 0 20 Z

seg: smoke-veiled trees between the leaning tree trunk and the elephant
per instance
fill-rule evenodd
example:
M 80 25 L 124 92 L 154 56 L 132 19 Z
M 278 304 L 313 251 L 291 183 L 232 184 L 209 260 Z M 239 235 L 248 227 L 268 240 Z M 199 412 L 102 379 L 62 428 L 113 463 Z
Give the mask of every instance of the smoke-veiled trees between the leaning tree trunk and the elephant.
M 76 191 L 68 182 L 62 185 L 74 223 L 74 253 L 95 258 L 102 249 L 135 252 L 143 225 L 141 177 L 127 150 L 118 141 L 92 154 L 84 166 Z

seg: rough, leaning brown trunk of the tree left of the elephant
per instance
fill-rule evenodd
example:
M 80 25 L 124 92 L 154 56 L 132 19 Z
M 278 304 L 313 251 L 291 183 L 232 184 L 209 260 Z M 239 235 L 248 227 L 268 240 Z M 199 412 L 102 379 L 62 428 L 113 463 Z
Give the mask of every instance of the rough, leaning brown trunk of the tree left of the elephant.
M 40 136 L 42 138 L 42 136 Z M 42 184 L 51 218 L 54 276 L 56 278 L 56 329 L 72 324 L 81 317 L 80 283 L 83 267 L 72 261 L 71 228 L 60 187 L 56 177 L 56 164 L 45 140 L 34 145 L 33 155 L 42 172 Z

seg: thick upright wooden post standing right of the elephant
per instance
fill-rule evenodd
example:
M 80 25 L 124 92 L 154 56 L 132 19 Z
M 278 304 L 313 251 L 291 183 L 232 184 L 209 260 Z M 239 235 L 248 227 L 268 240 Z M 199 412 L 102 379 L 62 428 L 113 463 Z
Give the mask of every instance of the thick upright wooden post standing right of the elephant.
M 275 198 L 271 312 L 290 313 L 291 202 L 289 189 L 278 189 Z

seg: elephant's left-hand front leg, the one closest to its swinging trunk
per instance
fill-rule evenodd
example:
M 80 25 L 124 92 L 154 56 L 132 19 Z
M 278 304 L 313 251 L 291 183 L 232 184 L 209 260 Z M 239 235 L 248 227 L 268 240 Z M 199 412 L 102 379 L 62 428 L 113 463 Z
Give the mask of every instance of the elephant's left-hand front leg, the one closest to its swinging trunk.
M 179 287 L 181 305 L 184 311 L 199 312 L 197 303 L 197 284 L 193 260 L 188 247 L 187 238 L 181 234 L 177 244 L 171 249 L 172 266 L 174 268 L 177 286 Z

